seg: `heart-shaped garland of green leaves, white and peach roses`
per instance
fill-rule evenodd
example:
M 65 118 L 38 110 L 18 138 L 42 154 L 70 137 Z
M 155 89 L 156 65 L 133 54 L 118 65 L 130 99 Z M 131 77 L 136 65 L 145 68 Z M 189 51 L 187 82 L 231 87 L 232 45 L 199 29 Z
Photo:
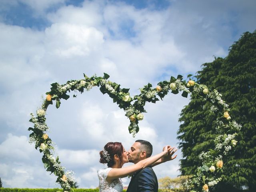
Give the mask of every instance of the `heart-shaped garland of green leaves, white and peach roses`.
M 208 192 L 209 187 L 216 185 L 221 180 L 218 175 L 222 171 L 223 156 L 226 156 L 236 146 L 235 137 L 241 129 L 241 125 L 231 120 L 228 104 L 221 99 L 222 95 L 217 90 L 210 91 L 207 86 L 191 80 L 190 76 L 192 75 L 188 75 L 188 82 L 182 80 L 181 75 L 178 75 L 177 78 L 171 77 L 170 81 L 159 82 L 156 88 L 152 88 L 149 83 L 144 88 L 140 88 L 141 93 L 135 96 L 130 96 L 129 89 L 121 89 L 119 84 L 107 80 L 109 75 L 106 73 L 103 77 L 94 75 L 90 78 L 84 74 L 84 79 L 70 80 L 63 85 L 53 83 L 50 92 L 46 92 L 42 106 L 36 111 L 37 116 L 31 114 L 30 122 L 34 124 L 34 128 L 28 128 L 33 131 L 30 134 L 30 143 L 35 143 L 35 148 L 39 148 L 39 151 L 43 152 L 44 167 L 47 171 L 54 173 L 58 177 L 56 182 L 64 191 L 69 192 L 75 184 L 74 173 L 65 171 L 65 168 L 60 165 L 58 156 L 54 157 L 54 143 L 46 134 L 48 130 L 45 118 L 46 109 L 53 104 L 53 100 L 56 101 L 56 108 L 59 108 L 60 100 L 67 100 L 70 97 L 66 94 L 67 92 L 74 91 L 73 97 L 76 97 L 77 91 L 83 93 L 84 89 L 89 91 L 92 87 L 98 86 L 103 94 L 108 94 L 114 103 L 116 102 L 120 108 L 124 109 L 125 115 L 130 119 L 128 130 L 134 137 L 139 131 L 138 122 L 144 118 L 146 102 L 156 103 L 159 100 L 158 97 L 162 100 L 169 91 L 173 94 L 182 92 L 183 97 L 187 97 L 189 93 L 197 94 L 212 102 L 211 111 L 218 115 L 216 120 L 218 136 L 215 139 L 214 150 L 200 153 L 199 159 L 202 160 L 202 166 L 197 168 L 196 174 L 190 180 L 186 180 L 184 187 L 190 192 Z

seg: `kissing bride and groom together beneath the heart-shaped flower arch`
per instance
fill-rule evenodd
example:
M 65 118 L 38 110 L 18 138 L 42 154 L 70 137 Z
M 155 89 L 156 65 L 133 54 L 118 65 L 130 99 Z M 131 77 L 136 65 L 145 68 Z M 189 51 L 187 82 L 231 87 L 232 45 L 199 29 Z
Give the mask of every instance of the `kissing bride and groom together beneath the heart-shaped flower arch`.
M 128 151 L 120 142 L 108 142 L 100 151 L 100 163 L 106 163 L 108 168 L 97 171 L 99 192 L 122 192 L 121 178 L 129 175 L 132 178 L 127 192 L 157 192 L 158 181 L 152 167 L 175 159 L 177 155 L 172 155 L 176 150 L 167 145 L 162 152 L 151 156 L 152 144 L 145 140 L 136 140 Z M 122 167 L 128 162 L 134 165 Z

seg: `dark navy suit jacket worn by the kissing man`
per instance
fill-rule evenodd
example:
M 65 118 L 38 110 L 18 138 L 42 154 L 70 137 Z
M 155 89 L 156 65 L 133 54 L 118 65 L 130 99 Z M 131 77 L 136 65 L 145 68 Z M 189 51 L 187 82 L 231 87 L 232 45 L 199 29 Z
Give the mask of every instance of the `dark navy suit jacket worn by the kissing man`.
M 158 192 L 156 174 L 151 167 L 146 167 L 132 177 L 127 192 Z

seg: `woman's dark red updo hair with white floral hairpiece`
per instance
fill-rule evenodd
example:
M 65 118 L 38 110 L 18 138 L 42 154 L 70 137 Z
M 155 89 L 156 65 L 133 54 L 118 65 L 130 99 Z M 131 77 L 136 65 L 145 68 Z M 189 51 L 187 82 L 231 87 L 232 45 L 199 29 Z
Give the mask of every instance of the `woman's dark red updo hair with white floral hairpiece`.
M 100 151 L 100 163 L 107 163 L 108 167 L 111 167 L 115 164 L 114 155 L 117 155 L 122 163 L 124 147 L 120 142 L 108 142 L 102 151 Z

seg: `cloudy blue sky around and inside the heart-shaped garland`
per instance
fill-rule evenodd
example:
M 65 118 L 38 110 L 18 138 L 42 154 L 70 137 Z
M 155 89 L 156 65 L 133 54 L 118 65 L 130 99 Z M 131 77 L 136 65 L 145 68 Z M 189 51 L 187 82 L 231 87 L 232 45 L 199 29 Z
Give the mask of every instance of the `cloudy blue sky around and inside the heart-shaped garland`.
M 28 143 L 30 113 L 50 84 L 103 75 L 130 88 L 156 86 L 170 76 L 196 74 L 225 57 L 243 32 L 256 29 L 254 0 L 2 0 L 0 5 L 0 178 L 4 187 L 53 188 L 41 154 Z M 70 94 L 72 95 L 72 94 Z M 154 153 L 177 146 L 179 114 L 189 99 L 168 95 L 147 104 L 135 139 Z M 81 188 L 98 186 L 98 152 L 109 141 L 129 148 L 124 111 L 98 88 L 47 110 L 50 138 Z M 180 174 L 179 159 L 154 168 L 158 178 Z M 129 180 L 123 179 L 124 185 Z

